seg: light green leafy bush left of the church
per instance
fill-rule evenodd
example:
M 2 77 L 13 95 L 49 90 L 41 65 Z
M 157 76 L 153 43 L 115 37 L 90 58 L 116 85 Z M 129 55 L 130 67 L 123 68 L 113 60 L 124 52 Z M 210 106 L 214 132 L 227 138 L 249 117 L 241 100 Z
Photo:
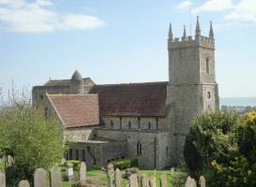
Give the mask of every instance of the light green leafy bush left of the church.
M 43 111 L 32 108 L 30 100 L 24 97 L 13 96 L 2 107 L 0 129 L 0 152 L 11 153 L 14 160 L 14 165 L 6 170 L 7 177 L 15 176 L 15 181 L 29 180 L 38 167 L 48 169 L 63 157 L 60 122 L 53 118 L 46 120 Z M 15 174 L 8 176 L 8 171 Z

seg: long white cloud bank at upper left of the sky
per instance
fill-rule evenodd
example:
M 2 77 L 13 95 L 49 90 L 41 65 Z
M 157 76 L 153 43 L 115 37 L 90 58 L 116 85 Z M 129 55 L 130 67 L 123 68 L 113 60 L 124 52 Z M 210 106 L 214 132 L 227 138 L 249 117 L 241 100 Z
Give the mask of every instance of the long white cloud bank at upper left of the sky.
M 56 30 L 86 30 L 103 25 L 89 15 L 60 15 L 54 12 L 51 0 L 32 3 L 23 0 L 0 0 L 1 28 L 13 32 L 51 32 Z

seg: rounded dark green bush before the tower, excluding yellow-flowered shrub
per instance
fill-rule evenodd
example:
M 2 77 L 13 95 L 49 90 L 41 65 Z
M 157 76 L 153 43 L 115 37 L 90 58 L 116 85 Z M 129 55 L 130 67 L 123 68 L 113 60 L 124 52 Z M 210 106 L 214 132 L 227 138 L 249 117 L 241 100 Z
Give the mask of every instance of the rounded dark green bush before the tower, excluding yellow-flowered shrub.
M 203 113 L 189 129 L 184 157 L 193 177 L 199 177 L 204 165 L 213 160 L 227 162 L 237 151 L 236 129 L 240 119 L 233 113 Z

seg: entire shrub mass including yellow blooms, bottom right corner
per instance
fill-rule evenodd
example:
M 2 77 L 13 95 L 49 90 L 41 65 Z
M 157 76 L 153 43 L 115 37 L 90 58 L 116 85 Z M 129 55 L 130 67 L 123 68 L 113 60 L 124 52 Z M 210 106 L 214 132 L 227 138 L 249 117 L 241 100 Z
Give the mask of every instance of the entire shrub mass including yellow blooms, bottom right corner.
M 256 112 L 244 120 L 233 113 L 204 113 L 190 128 L 185 160 L 208 186 L 256 186 Z

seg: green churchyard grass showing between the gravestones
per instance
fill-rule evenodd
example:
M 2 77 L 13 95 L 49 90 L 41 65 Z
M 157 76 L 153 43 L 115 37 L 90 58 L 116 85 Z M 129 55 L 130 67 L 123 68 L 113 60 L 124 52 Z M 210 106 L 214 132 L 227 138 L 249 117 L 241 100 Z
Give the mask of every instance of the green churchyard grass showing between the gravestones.
M 144 174 L 146 176 L 156 176 L 157 179 L 157 186 L 160 185 L 160 176 L 165 174 L 166 179 L 168 181 L 168 187 L 179 187 L 184 186 L 185 180 L 187 178 L 187 174 L 182 171 L 175 171 L 173 174 L 171 173 L 171 170 L 140 170 L 141 174 Z M 87 170 L 87 180 L 90 180 L 94 184 L 98 185 L 105 185 L 108 184 L 108 178 L 105 171 L 102 171 L 101 169 L 91 168 Z M 125 187 L 127 183 L 127 179 L 123 179 L 123 186 Z M 70 187 L 71 184 L 68 181 L 63 182 L 63 187 Z

